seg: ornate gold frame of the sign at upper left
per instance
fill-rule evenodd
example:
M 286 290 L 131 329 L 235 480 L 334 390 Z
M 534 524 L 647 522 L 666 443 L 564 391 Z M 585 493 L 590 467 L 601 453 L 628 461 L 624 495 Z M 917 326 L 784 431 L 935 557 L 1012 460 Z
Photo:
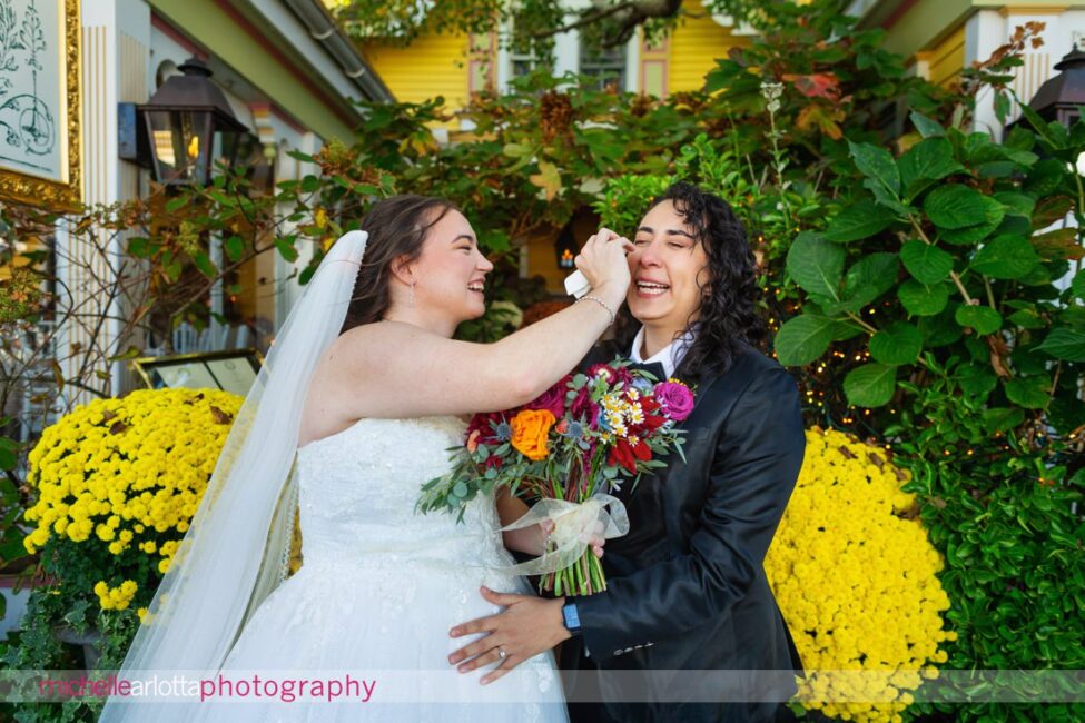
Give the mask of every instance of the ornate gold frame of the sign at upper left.
M 75 210 L 82 200 L 82 175 L 80 174 L 80 93 L 82 78 L 79 72 L 80 36 L 79 0 L 65 0 L 63 3 L 65 76 L 67 78 L 67 121 L 68 143 L 66 159 L 67 181 L 53 181 L 19 171 L 0 169 L 0 198 L 16 204 L 38 206 L 48 210 Z M 60 121 L 58 120 L 58 123 Z

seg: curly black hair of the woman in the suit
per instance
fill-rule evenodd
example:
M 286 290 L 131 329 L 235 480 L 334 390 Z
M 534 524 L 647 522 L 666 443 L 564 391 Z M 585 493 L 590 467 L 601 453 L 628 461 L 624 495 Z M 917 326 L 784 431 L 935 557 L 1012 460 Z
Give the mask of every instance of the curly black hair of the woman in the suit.
M 727 201 L 687 181 L 672 184 L 652 200 L 649 210 L 663 201 L 674 204 L 708 255 L 708 280 L 700 287 L 697 336 L 675 374 L 684 378 L 722 374 L 746 346 L 761 346 L 767 335 L 765 321 L 757 314 L 757 263 L 746 228 Z M 693 324 L 691 317 L 685 329 Z M 640 326 L 623 304 L 615 326 L 620 348 L 629 348 Z

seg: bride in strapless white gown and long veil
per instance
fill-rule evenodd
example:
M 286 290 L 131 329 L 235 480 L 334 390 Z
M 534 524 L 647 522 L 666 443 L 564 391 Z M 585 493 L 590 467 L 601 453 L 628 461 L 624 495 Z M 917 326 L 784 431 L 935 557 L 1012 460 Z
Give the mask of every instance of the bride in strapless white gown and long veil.
M 448 471 L 462 415 L 531 400 L 605 330 L 629 284 L 628 241 L 584 245 L 586 304 L 480 345 L 451 338 L 484 313 L 493 268 L 455 208 L 395 197 L 362 228 L 332 247 L 277 337 L 118 675 L 183 671 L 199 694 L 115 695 L 101 721 L 568 720 L 549 653 L 510 656 L 519 667 L 491 684 L 480 679 L 492 665 L 448 664 L 463 645 L 450 628 L 497 612 L 481 585 L 530 592 L 502 572 L 506 546 L 542 552 L 537 527 L 500 531 L 522 503 L 477 497 L 457 522 L 415 502 Z M 303 566 L 279 584 L 295 499 Z M 359 694 L 283 695 L 288 680 L 313 693 L 343 674 Z M 227 694 L 224 681 L 254 675 L 263 689 Z

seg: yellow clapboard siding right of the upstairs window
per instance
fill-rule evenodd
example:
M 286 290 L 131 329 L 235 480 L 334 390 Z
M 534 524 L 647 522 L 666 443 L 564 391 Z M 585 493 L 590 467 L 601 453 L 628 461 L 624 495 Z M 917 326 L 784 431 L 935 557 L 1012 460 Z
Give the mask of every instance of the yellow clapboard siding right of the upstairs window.
M 707 13 L 700 2 L 687 3 L 693 16 L 679 20 L 668 40 L 669 92 L 698 90 L 704 85 L 704 75 L 716 68 L 717 58 L 726 58 L 736 46 L 747 47 L 750 39 L 732 36 L 730 28 L 719 24 Z

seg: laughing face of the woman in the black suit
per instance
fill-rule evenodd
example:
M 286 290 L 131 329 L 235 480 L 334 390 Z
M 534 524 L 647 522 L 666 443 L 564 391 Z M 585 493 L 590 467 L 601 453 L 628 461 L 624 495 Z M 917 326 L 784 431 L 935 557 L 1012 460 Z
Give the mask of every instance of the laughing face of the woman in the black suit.
M 664 200 L 641 220 L 629 255 L 629 310 L 647 330 L 668 339 L 697 318 L 708 283 L 708 254 L 693 232 L 674 202 Z

